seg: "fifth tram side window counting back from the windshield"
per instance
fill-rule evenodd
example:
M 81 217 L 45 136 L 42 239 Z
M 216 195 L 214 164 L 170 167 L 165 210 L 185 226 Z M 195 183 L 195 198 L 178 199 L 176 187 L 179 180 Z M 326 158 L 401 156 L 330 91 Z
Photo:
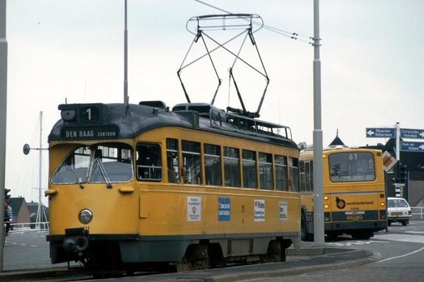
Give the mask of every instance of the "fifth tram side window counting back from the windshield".
M 240 187 L 240 151 L 236 148 L 224 147 L 225 186 Z

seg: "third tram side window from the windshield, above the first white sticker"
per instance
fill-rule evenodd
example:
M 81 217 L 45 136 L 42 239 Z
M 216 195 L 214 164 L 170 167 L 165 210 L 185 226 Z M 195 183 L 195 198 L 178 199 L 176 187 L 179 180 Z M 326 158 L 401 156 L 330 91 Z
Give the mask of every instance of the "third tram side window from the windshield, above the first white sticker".
M 184 183 L 201 184 L 200 143 L 181 141 Z

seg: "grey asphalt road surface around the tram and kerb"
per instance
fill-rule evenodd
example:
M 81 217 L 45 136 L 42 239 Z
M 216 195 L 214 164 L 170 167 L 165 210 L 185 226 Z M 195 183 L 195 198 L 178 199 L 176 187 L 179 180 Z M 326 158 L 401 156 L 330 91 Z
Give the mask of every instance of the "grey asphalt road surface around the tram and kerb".
M 47 232 L 12 233 L 7 238 L 4 248 L 4 271 L 13 274 L 22 271 L 43 271 L 52 267 L 66 268 L 67 264 L 50 264 L 49 247 L 45 241 L 46 235 Z M 314 243 L 303 243 L 302 248 L 309 250 L 312 255 L 319 255 L 319 252 L 322 251 Z M 210 270 L 203 271 L 201 275 L 192 273 L 155 278 L 153 276 L 150 276 L 150 278 L 138 276 L 131 277 L 131 281 L 166 281 L 168 278 L 179 278 L 178 281 L 187 281 L 184 278 L 199 278 L 203 281 L 207 278 L 210 281 L 243 281 L 245 279 L 245 281 L 269 282 L 288 281 L 285 279 L 289 279 L 290 281 L 314 282 L 341 280 L 417 281 L 417 277 L 424 276 L 422 264 L 424 261 L 424 221 L 411 221 L 411 224 L 408 226 L 401 226 L 400 224 L 398 226 L 394 223 L 389 227 L 388 233 L 377 233 L 370 240 L 352 240 L 350 236 L 338 238 L 337 240 L 326 240 L 325 250 L 327 253 L 329 250 L 351 251 L 337 251 L 334 255 L 327 254 L 318 257 L 298 257 L 293 253 L 293 250 L 290 250 L 288 262 L 281 264 L 240 266 L 229 269 L 226 272 Z M 375 254 L 377 254 L 377 259 Z M 372 257 L 372 259 L 367 260 L 369 257 Z M 379 262 L 372 262 L 377 260 Z M 351 262 L 356 263 L 349 264 Z M 371 263 L 365 264 L 365 262 Z M 327 267 L 329 264 L 332 266 Z M 322 267 L 324 265 L 327 266 Z M 78 266 L 78 264 L 71 264 L 71 267 L 74 266 Z M 299 270 L 299 267 L 301 270 Z M 348 267 L 348 269 L 344 269 L 345 267 Z M 287 271 L 281 271 L 282 269 L 298 269 L 298 271 L 288 273 Z M 309 270 L 307 271 L 306 269 Z M 252 271 L 256 274 L 252 276 L 241 275 Z M 281 276 L 271 278 L 269 275 L 265 275 L 265 273 L 270 273 L 271 271 L 280 271 Z M 258 276 L 261 273 L 264 275 Z M 224 280 L 223 277 L 225 277 Z M 251 279 L 253 277 L 254 279 Z M 87 279 L 87 277 L 76 278 L 76 280 L 78 279 Z M 37 280 L 40 281 L 40 279 Z M 50 281 L 74 280 L 54 279 Z

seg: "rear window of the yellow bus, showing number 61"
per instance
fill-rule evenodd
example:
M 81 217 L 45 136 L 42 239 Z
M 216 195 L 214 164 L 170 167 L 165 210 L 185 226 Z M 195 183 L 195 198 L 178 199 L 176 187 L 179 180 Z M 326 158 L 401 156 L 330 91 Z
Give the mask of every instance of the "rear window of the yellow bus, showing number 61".
M 375 180 L 375 165 L 370 152 L 343 152 L 329 154 L 331 182 Z

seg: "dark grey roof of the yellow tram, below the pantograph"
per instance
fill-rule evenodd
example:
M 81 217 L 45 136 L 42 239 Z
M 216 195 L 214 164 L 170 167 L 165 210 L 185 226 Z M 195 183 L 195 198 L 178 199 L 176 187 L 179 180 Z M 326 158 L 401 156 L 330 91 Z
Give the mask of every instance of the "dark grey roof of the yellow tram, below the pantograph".
M 86 112 L 93 110 L 97 119 L 87 121 Z M 85 140 L 87 138 L 66 138 L 66 130 L 92 130 L 114 126 L 114 138 L 132 139 L 154 128 L 177 126 L 205 132 L 241 137 L 260 142 L 297 147 L 291 139 L 288 126 L 260 121 L 239 114 L 232 114 L 206 103 L 177 104 L 170 110 L 160 101 L 139 104 L 61 104 L 61 119 L 49 134 L 51 140 Z

